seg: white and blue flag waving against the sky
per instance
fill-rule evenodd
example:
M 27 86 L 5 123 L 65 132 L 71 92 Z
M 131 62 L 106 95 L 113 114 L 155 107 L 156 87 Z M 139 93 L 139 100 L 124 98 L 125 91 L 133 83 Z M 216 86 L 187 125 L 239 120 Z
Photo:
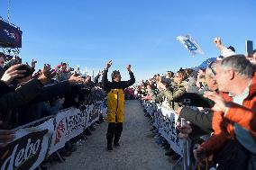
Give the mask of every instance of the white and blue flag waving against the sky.
M 196 54 L 204 54 L 204 51 L 197 44 L 196 40 L 194 40 L 190 35 L 180 35 L 177 37 L 177 40 L 184 45 L 192 56 L 195 56 Z

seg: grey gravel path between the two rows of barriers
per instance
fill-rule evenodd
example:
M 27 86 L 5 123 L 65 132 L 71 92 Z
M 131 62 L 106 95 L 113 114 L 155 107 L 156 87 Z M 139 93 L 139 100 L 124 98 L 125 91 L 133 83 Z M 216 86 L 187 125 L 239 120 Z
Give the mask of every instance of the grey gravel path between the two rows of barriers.
M 65 163 L 57 163 L 50 169 L 170 170 L 169 157 L 164 156 L 164 149 L 152 139 L 151 125 L 143 113 L 138 101 L 126 101 L 121 148 L 114 148 L 113 152 L 106 151 L 107 123 L 102 123 L 96 126 L 85 144 L 66 158 Z

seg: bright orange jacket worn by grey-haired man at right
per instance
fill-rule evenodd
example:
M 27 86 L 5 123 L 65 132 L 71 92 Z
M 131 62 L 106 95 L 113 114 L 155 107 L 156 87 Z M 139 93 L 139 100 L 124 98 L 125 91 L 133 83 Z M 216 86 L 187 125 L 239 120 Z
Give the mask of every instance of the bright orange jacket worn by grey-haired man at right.
M 224 112 L 214 113 L 212 121 L 214 135 L 201 145 L 206 149 L 207 156 L 224 147 L 228 139 L 235 139 L 234 122 L 248 130 L 256 141 L 256 75 L 252 77 L 249 95 L 243 100 L 242 105 L 231 102 L 232 98 L 228 94 L 220 94 L 230 105 L 225 114 Z

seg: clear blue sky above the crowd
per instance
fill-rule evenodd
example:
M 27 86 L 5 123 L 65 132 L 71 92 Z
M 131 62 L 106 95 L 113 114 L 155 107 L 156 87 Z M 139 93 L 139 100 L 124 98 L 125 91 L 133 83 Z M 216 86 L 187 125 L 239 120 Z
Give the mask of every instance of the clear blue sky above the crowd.
M 23 61 L 97 71 L 112 59 L 123 79 L 131 64 L 141 80 L 218 56 L 215 36 L 238 53 L 245 40 L 254 40 L 255 49 L 255 6 L 255 0 L 11 0 L 11 22 L 23 31 Z M 0 15 L 7 19 L 7 0 L 0 0 Z M 205 55 L 189 55 L 176 40 L 185 34 Z

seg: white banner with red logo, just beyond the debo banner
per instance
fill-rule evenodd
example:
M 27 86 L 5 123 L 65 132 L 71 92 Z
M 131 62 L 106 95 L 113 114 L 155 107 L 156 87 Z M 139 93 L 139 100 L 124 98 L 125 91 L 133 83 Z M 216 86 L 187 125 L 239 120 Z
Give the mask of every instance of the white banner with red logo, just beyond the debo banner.
M 81 112 L 79 109 L 71 107 L 58 112 L 55 118 L 56 126 L 50 144 L 50 155 L 59 148 L 63 148 L 69 139 L 83 132 L 87 122 L 86 111 Z

